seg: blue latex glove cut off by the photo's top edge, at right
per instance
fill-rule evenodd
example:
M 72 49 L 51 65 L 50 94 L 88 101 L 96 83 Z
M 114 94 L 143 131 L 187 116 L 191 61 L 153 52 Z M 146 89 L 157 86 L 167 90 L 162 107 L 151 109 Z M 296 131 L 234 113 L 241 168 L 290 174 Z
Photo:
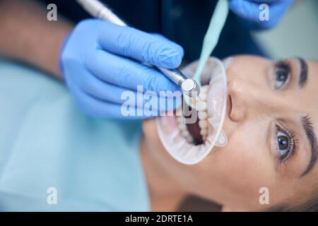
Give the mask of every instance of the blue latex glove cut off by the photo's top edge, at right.
M 259 20 L 262 9 L 260 4 L 269 5 L 269 20 Z M 293 0 L 230 0 L 230 10 L 245 19 L 249 28 L 269 29 L 273 28 L 283 17 L 283 14 L 293 4 Z

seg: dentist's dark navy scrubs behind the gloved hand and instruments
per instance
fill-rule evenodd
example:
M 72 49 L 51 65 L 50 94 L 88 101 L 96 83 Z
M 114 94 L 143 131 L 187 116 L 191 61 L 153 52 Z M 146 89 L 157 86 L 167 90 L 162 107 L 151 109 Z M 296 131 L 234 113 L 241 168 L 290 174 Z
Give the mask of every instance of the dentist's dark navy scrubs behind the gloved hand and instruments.
M 62 16 L 77 23 L 90 18 L 75 0 L 42 0 L 57 4 Z M 199 59 L 204 35 L 217 1 L 213 0 L 107 0 L 114 13 L 126 23 L 145 32 L 155 32 L 177 42 L 184 48 L 184 60 Z M 231 13 L 225 23 L 213 56 L 224 58 L 234 54 L 266 56 L 252 39 L 240 18 Z

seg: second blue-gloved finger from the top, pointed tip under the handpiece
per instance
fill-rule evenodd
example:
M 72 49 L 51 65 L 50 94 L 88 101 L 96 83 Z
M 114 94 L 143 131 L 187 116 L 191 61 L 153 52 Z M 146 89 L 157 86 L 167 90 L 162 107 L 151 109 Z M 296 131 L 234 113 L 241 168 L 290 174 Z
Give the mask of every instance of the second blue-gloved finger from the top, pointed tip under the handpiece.
M 155 91 L 158 95 L 163 91 L 180 90 L 179 86 L 152 67 L 101 49 L 96 50 L 94 56 L 86 60 L 86 67 L 100 80 L 122 88 L 136 90 L 137 85 L 141 85 L 143 93 Z

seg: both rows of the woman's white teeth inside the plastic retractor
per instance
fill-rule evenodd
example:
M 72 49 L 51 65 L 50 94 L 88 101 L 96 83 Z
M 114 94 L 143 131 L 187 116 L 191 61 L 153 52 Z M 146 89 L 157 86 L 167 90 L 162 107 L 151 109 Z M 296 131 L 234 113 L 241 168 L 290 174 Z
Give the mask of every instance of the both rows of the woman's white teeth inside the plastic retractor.
M 200 134 L 204 141 L 206 141 L 206 137 L 208 136 L 208 112 L 206 108 L 207 92 L 208 85 L 202 86 L 199 97 L 196 97 L 195 99 L 196 111 L 199 118 Z M 187 130 L 187 126 L 184 124 L 184 117 L 182 116 L 182 114 L 180 116 L 177 116 L 177 125 L 182 133 L 182 136 L 184 136 L 184 138 L 186 138 L 188 142 L 192 142 L 193 138 Z

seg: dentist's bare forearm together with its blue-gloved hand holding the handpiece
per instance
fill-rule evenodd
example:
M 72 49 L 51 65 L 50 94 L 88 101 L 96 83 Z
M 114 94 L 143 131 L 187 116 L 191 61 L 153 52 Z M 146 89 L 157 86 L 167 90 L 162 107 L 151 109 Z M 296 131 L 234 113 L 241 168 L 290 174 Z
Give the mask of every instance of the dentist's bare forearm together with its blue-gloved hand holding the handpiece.
M 33 1 L 0 3 L 0 53 L 64 78 L 78 106 L 94 117 L 126 119 L 122 93 L 129 90 L 136 97 L 137 85 L 156 93 L 151 100 L 158 103 L 163 102 L 160 91 L 179 90 L 163 74 L 139 63 L 179 66 L 182 47 L 164 37 L 96 19 L 83 20 L 72 30 L 59 14 L 57 22 L 48 21 L 46 6 Z M 129 102 L 129 107 L 143 112 L 142 101 Z M 153 106 L 156 114 L 160 107 Z

